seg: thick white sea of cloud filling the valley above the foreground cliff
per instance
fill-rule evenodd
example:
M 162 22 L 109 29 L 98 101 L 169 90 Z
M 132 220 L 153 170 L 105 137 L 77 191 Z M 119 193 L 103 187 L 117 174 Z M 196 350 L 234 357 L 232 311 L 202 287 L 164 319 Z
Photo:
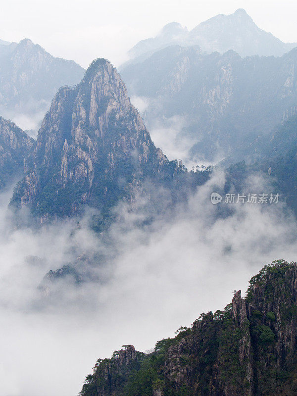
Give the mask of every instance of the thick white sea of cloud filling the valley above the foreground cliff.
M 1 195 L 5 396 L 77 394 L 98 357 L 129 343 L 147 350 L 191 325 L 202 311 L 223 308 L 264 264 L 295 260 L 296 222 L 284 205 L 234 204 L 227 215 L 221 204 L 210 202 L 224 182 L 217 171 L 175 206 L 166 190 L 151 190 L 152 204 L 141 198 L 131 212 L 122 203 L 116 208 L 119 220 L 101 235 L 88 227 L 91 211 L 80 227 L 65 221 L 41 230 L 11 229 L 4 216 L 9 194 Z M 269 192 L 270 186 L 251 175 L 245 192 L 250 189 Z M 161 208 L 166 209 L 160 214 Z M 103 281 L 78 286 L 65 278 L 49 299 L 40 299 L 45 273 L 83 252 L 97 257 L 91 267 Z

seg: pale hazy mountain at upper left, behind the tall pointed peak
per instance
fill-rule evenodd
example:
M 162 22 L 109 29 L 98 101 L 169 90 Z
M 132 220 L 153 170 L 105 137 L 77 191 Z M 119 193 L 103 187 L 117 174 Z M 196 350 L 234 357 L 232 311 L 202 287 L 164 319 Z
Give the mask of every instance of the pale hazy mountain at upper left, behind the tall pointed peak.
M 62 85 L 77 84 L 85 70 L 72 60 L 55 58 L 31 40 L 0 46 L 0 112 L 40 119 Z

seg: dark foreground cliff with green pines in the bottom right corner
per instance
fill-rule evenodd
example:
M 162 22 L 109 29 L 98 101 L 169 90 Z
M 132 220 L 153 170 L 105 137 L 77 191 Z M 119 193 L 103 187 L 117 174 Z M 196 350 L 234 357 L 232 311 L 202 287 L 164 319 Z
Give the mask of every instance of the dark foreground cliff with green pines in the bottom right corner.
M 245 298 L 202 314 L 154 352 L 99 360 L 82 396 L 293 396 L 297 392 L 297 264 L 265 266 Z M 118 381 L 118 378 L 121 380 Z

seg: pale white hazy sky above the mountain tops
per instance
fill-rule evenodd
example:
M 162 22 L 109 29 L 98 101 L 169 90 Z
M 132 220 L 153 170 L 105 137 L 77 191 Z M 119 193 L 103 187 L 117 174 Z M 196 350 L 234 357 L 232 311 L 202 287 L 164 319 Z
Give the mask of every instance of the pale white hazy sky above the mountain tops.
M 281 40 L 297 42 L 297 3 L 290 0 L 2 0 L 0 39 L 30 38 L 53 55 L 84 67 L 97 57 L 117 66 L 128 49 L 168 22 L 191 29 L 237 8 L 245 8 L 260 28 Z

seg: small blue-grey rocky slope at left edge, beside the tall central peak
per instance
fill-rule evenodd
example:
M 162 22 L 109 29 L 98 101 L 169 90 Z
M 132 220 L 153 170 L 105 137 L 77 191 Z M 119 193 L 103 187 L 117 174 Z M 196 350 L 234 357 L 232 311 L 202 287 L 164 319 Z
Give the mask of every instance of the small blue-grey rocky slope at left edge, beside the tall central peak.
M 13 122 L 0 117 L 0 188 L 23 173 L 24 158 L 35 145 L 34 139 Z

